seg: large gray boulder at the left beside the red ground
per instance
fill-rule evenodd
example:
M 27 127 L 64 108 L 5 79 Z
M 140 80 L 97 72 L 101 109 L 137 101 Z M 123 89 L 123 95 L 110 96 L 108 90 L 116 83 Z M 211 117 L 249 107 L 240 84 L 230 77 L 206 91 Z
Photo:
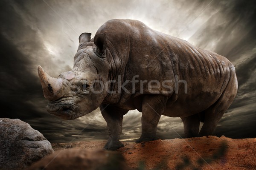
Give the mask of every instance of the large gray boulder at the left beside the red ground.
M 20 119 L 0 118 L 0 169 L 23 170 L 53 153 L 44 136 Z

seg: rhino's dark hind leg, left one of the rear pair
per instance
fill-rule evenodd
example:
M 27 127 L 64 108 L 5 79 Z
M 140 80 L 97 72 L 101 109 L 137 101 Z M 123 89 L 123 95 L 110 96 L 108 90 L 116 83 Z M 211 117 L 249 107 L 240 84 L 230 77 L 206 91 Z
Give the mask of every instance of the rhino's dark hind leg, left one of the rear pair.
M 199 132 L 200 118 L 198 114 L 181 118 L 184 125 L 185 138 L 197 137 Z

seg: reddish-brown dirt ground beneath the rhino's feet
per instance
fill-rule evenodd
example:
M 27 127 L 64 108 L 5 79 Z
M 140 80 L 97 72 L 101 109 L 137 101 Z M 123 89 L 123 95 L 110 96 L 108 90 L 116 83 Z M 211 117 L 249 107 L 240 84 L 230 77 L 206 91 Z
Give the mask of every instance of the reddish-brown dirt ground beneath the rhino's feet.
M 126 163 L 140 170 L 253 170 L 256 169 L 256 138 L 230 139 L 208 136 L 189 139 L 169 139 L 152 142 L 123 142 Z M 105 141 L 53 143 L 56 150 L 103 148 Z

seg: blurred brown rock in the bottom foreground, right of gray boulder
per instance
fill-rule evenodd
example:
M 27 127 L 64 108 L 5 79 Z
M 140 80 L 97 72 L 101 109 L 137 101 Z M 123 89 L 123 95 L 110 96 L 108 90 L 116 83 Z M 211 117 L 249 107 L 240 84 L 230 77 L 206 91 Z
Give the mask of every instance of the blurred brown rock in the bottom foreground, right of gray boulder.
M 120 153 L 107 150 L 65 149 L 46 156 L 28 170 L 131 170 Z

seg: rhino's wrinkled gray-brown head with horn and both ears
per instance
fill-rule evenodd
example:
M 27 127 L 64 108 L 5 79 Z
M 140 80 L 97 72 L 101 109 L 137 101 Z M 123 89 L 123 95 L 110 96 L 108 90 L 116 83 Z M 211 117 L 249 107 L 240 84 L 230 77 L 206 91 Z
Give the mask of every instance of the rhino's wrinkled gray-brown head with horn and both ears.
M 53 78 L 38 66 L 44 97 L 49 100 L 47 111 L 62 119 L 73 120 L 94 111 L 107 95 L 102 86 L 109 69 L 105 61 L 106 37 L 97 34 L 90 40 L 90 35 L 80 35 L 71 71 Z

